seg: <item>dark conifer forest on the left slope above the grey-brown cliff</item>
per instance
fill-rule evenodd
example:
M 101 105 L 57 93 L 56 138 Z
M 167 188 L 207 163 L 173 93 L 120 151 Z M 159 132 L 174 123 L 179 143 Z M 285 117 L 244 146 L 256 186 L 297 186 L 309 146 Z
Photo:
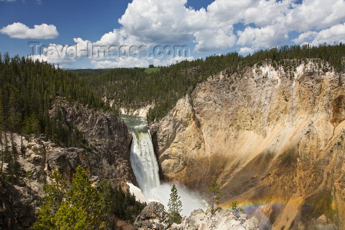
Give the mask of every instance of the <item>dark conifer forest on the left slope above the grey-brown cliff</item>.
M 12 184 L 20 183 L 23 172 L 11 133 L 43 133 L 60 146 L 84 147 L 82 133 L 63 123 L 62 114 L 50 116 L 49 110 L 59 99 L 109 108 L 89 86 L 80 84 L 74 73 L 29 57 L 0 54 L 0 83 L 0 175 Z

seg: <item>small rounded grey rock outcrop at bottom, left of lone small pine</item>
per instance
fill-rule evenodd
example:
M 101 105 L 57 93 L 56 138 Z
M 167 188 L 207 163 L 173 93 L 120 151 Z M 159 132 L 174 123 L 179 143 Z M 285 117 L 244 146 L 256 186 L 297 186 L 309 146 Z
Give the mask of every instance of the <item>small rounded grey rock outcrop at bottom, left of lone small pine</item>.
M 138 230 L 166 230 L 171 225 L 169 215 L 164 211 L 164 205 L 150 202 L 142 209 L 134 223 Z

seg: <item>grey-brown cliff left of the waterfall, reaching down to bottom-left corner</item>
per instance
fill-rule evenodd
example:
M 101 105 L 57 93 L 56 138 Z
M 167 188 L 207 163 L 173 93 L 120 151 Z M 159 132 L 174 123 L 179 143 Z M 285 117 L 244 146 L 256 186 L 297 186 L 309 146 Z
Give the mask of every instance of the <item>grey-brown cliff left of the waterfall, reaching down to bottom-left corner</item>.
M 0 181 L 0 229 L 26 229 L 34 223 L 38 197 L 43 196 L 43 185 L 45 180 L 49 183 L 52 170 L 58 170 L 68 184 L 77 166 L 86 170 L 92 183 L 104 178 L 113 185 L 136 184 L 129 160 L 132 135 L 121 120 L 110 112 L 67 101 L 55 104 L 50 115 L 54 116 L 58 110 L 62 113 L 62 123 L 76 127 L 88 148 L 59 147 L 44 136 L 6 133 L 8 139 L 13 138 L 14 148 L 20 153 L 17 162 L 23 178 L 19 179 L 20 186 Z M 6 167 L 4 164 L 3 170 Z

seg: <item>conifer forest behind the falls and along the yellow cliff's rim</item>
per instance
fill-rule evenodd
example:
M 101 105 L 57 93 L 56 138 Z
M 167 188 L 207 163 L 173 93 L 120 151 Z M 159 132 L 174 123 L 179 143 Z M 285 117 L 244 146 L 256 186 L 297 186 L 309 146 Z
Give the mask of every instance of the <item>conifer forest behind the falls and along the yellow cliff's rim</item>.
M 253 55 L 243 57 L 237 52 L 226 55 L 214 55 L 194 61 L 164 66 L 160 71 L 146 73 L 144 68 L 114 68 L 100 70 L 78 70 L 75 73 L 84 85 L 97 89 L 97 95 L 108 101 L 116 109 L 140 108 L 150 103 L 154 107 L 149 110 L 149 122 L 159 120 L 170 111 L 178 99 L 191 93 L 196 85 L 206 81 L 208 77 L 226 70 L 226 74 L 243 73 L 245 67 L 262 65 L 271 62 L 274 67 L 283 66 L 290 71 L 307 59 L 318 59 L 328 62 L 336 71 L 344 71 L 345 46 L 299 45 L 281 46 L 260 50 Z M 294 62 L 286 62 L 294 60 Z M 321 66 L 321 64 L 320 64 Z

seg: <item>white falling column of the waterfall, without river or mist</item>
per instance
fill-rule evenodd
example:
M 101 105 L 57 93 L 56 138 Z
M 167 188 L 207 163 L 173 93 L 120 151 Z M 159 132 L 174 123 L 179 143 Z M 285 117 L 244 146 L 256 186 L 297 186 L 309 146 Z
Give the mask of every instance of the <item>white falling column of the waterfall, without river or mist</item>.
M 149 131 L 132 131 L 133 140 L 131 146 L 131 165 L 137 177 L 138 186 L 144 195 L 158 187 L 158 164 L 153 150 Z

